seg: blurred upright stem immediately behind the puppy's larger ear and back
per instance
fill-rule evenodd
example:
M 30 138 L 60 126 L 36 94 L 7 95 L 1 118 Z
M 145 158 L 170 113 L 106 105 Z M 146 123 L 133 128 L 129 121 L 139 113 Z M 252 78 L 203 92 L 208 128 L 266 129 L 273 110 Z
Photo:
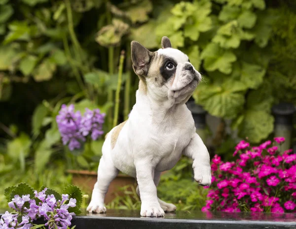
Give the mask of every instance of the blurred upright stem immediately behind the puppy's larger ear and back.
M 124 120 L 128 119 L 130 112 L 130 90 L 131 90 L 131 46 L 126 46 L 126 81 L 124 89 Z

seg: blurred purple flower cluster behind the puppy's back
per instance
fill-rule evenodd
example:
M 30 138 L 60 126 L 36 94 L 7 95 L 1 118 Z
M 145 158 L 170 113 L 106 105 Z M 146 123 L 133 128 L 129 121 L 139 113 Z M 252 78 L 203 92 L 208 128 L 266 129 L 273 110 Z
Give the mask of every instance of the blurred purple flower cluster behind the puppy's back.
M 104 119 L 105 114 L 100 113 L 99 109 L 86 109 L 82 116 L 79 111 L 74 112 L 74 104 L 68 107 L 63 104 L 56 117 L 63 144 L 68 144 L 70 150 L 79 149 L 87 136 L 93 140 L 102 136 Z

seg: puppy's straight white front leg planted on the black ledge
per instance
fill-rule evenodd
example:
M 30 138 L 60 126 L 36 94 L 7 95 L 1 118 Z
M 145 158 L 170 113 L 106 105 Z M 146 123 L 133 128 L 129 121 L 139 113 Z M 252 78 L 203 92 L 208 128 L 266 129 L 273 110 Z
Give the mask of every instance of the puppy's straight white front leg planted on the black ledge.
M 149 162 L 141 160 L 135 163 L 137 171 L 137 182 L 141 198 L 141 216 L 162 217 L 164 211 L 157 199 L 157 190 L 153 182 L 154 168 Z

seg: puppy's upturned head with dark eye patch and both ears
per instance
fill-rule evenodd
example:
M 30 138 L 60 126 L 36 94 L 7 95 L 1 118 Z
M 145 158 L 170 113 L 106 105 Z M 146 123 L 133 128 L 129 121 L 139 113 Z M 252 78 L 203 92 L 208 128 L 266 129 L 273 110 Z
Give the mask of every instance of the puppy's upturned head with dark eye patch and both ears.
M 186 54 L 171 47 L 167 37 L 162 38 L 161 45 L 159 50 L 150 52 L 138 42 L 132 42 L 135 73 L 143 81 L 144 90 L 155 99 L 175 99 L 175 104 L 186 102 L 201 81 L 201 75 Z

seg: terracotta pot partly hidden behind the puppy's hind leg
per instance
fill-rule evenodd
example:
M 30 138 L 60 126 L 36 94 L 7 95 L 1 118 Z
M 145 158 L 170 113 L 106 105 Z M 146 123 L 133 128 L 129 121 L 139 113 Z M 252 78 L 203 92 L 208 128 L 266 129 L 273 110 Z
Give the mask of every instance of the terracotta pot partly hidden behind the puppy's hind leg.
M 96 172 L 86 170 L 67 170 L 67 173 L 72 174 L 72 183 L 91 197 L 92 190 L 97 182 L 98 174 Z M 117 177 L 110 183 L 108 192 L 105 196 L 105 204 L 110 203 L 116 197 L 115 193 L 123 196 L 124 193 L 118 191 L 118 189 L 125 185 L 135 185 L 136 187 L 136 179 L 125 174 L 118 174 Z

